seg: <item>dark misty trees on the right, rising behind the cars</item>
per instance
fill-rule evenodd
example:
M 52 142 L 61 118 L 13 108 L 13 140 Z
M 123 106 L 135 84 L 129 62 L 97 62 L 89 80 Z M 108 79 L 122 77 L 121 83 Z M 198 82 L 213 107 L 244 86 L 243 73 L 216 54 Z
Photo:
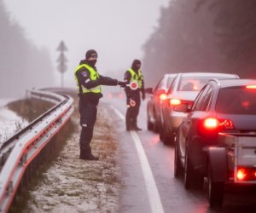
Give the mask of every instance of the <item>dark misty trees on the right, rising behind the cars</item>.
M 143 51 L 151 85 L 167 72 L 256 78 L 256 1 L 172 0 Z

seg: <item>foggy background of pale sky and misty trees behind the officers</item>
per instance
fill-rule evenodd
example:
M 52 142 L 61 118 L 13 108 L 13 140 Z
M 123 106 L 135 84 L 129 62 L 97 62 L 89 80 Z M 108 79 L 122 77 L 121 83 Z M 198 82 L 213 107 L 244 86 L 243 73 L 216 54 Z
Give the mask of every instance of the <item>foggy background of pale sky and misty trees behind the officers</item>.
M 0 6 L 0 95 L 60 86 L 61 41 L 68 49 L 64 86 L 73 88 L 87 49 L 98 52 L 102 75 L 118 79 L 141 59 L 146 87 L 167 72 L 256 78 L 254 0 L 0 0 Z

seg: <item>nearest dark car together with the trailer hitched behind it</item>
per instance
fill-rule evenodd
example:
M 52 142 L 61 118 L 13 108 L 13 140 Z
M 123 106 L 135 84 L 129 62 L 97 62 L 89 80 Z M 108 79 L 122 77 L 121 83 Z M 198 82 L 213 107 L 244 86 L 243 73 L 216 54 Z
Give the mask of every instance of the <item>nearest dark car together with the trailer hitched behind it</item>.
M 183 174 L 186 189 L 202 187 L 207 177 L 212 206 L 222 204 L 224 183 L 238 178 L 236 182 L 256 184 L 255 79 L 212 79 L 191 108 L 183 103 L 173 110 L 187 113 L 177 129 L 174 154 L 174 176 Z M 246 143 L 250 145 L 241 148 Z M 241 157 L 245 167 L 239 173 Z M 252 175 L 243 180 L 246 170 Z

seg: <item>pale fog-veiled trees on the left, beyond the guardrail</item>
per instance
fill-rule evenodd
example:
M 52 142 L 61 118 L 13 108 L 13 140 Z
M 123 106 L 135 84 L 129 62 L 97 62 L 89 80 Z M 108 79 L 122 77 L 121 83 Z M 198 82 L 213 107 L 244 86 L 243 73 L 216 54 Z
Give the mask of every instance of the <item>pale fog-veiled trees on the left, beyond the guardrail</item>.
M 0 0 L 0 98 L 25 94 L 32 87 L 52 86 L 53 66 L 45 49 L 26 38 L 18 23 L 10 20 Z

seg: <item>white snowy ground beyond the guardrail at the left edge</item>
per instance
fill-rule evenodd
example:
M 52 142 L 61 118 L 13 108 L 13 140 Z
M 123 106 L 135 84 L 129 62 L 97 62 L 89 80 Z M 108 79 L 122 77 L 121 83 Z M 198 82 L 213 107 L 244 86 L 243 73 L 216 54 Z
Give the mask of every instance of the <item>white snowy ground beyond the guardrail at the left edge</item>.
M 27 121 L 5 107 L 11 99 L 0 99 L 0 142 L 7 140 L 16 131 L 25 127 Z

